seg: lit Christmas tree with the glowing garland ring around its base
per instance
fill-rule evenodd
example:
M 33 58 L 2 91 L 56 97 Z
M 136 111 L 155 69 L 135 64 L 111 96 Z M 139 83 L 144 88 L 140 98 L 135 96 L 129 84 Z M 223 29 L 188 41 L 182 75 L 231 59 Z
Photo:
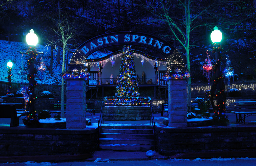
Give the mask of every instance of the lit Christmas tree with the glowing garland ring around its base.
M 140 106 L 141 101 L 150 103 L 150 98 L 139 97 L 139 82 L 134 69 L 134 59 L 131 46 L 124 46 L 121 57 L 120 72 L 118 74 L 116 94 L 105 97 L 105 103 L 114 106 Z

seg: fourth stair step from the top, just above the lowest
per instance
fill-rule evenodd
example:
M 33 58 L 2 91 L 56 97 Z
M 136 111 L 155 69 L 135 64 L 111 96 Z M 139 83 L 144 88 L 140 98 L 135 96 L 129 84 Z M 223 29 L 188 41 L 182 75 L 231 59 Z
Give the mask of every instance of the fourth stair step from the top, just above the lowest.
M 100 144 L 139 144 L 139 145 L 154 145 L 154 140 L 139 140 L 139 139 L 113 139 L 101 138 Z

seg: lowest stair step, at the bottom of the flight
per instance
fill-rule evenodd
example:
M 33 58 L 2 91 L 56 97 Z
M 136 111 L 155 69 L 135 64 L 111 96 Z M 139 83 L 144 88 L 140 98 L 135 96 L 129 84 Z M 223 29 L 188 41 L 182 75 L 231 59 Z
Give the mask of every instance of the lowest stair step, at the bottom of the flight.
M 141 151 L 154 150 L 154 145 L 136 145 L 136 144 L 100 144 L 102 150 L 122 150 L 122 151 Z

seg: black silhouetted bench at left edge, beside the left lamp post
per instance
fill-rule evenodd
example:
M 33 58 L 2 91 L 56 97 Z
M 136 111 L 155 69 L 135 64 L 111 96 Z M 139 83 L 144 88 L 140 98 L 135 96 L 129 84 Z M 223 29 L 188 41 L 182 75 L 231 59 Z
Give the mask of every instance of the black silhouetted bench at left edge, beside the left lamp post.
M 0 118 L 11 118 L 10 127 L 19 126 L 21 114 L 17 115 L 15 103 L 0 104 Z

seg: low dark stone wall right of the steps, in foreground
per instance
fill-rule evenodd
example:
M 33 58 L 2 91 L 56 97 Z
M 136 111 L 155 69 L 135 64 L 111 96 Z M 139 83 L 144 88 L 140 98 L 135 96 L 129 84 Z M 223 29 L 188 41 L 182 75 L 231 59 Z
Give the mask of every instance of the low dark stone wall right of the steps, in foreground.
M 159 154 L 225 150 L 255 150 L 256 127 L 156 127 Z

